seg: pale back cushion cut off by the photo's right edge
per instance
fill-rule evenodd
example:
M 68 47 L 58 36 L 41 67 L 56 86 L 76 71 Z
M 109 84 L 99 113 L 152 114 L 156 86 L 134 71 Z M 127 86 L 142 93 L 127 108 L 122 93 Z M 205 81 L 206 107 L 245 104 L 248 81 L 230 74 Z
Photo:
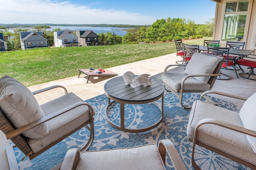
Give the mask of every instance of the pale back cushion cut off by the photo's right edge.
M 244 128 L 256 131 L 256 113 L 255 113 L 255 102 L 256 102 L 256 93 L 254 93 L 250 98 L 248 98 L 241 110 L 240 118 L 244 125 Z M 252 150 L 256 152 L 256 138 L 250 135 L 246 135 L 248 142 L 250 143 Z

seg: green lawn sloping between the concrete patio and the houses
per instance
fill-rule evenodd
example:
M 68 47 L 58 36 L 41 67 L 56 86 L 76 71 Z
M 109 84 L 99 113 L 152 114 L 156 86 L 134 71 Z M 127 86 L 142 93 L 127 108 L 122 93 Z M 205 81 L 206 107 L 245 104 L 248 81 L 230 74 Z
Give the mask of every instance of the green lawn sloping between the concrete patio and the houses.
M 184 42 L 203 45 L 204 39 Z M 174 42 L 12 51 L 0 53 L 0 77 L 9 75 L 31 86 L 77 75 L 80 68 L 110 68 L 175 52 Z

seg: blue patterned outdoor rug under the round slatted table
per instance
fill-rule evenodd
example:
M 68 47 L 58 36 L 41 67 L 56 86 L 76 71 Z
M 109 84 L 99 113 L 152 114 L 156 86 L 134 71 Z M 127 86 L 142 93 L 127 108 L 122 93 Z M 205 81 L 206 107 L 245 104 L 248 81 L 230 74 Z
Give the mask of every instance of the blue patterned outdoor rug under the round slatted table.
M 184 94 L 184 103 L 190 104 L 200 96 L 196 93 Z M 226 107 L 239 111 L 235 104 L 212 98 L 220 107 Z M 183 109 L 178 98 L 169 92 L 164 94 L 164 118 L 158 127 L 143 133 L 126 133 L 110 126 L 105 119 L 105 109 L 108 106 L 108 98 L 105 94 L 86 100 L 96 112 L 94 117 L 94 142 L 89 150 L 102 150 L 112 148 L 134 147 L 148 143 L 157 144 L 161 139 L 170 139 L 178 150 L 187 169 L 193 169 L 191 164 L 192 143 L 188 141 L 186 127 L 190 109 Z M 161 104 L 161 99 L 157 100 Z M 154 104 L 125 105 L 126 128 L 145 127 L 160 117 L 160 110 Z M 118 104 L 108 111 L 110 119 L 118 124 L 119 122 Z M 47 170 L 51 169 L 64 159 L 66 151 L 70 148 L 81 148 L 87 141 L 90 133 L 86 128 L 80 129 L 70 137 L 64 139 L 48 151 L 40 154 L 31 161 L 26 158 L 20 161 L 24 154 L 19 149 L 14 149 L 16 160 L 20 170 Z M 198 147 L 195 154 L 196 162 L 202 169 L 215 170 L 238 170 L 248 169 L 232 160 L 220 156 L 214 152 Z M 166 162 L 166 169 L 174 169 L 170 159 Z

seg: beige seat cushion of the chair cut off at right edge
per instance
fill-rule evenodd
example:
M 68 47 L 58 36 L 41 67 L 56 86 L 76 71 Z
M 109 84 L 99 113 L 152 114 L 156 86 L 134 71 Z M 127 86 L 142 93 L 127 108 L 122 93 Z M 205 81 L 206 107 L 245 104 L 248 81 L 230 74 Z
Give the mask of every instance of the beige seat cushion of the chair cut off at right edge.
M 239 113 L 196 100 L 190 111 L 187 126 L 190 138 L 194 138 L 196 123 L 205 118 L 243 127 Z M 202 125 L 198 130 L 197 140 L 201 143 L 256 164 L 256 153 L 253 152 L 246 135 L 212 124 Z

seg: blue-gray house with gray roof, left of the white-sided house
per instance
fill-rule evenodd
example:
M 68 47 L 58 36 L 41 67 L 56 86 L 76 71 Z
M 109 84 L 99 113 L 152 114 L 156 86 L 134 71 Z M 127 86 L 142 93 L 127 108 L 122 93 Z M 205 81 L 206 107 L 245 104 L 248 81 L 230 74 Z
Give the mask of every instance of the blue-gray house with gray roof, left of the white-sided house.
M 48 47 L 47 39 L 43 37 L 43 32 L 20 32 L 21 48 L 32 49 Z

